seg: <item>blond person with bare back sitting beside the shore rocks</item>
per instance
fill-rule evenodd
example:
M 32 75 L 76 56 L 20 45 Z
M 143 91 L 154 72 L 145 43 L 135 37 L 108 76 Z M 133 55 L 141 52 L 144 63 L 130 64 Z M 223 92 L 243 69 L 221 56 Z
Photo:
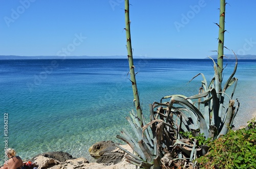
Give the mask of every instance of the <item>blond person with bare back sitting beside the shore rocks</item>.
M 15 150 L 8 148 L 5 153 L 9 160 L 0 169 L 22 169 L 23 160 L 19 156 L 16 156 Z

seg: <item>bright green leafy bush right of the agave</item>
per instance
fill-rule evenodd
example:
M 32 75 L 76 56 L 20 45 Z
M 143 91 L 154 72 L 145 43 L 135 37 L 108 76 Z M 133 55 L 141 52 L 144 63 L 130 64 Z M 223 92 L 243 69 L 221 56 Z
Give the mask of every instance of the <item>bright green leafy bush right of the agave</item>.
M 208 144 L 209 151 L 197 159 L 200 168 L 254 168 L 256 163 L 255 119 Z

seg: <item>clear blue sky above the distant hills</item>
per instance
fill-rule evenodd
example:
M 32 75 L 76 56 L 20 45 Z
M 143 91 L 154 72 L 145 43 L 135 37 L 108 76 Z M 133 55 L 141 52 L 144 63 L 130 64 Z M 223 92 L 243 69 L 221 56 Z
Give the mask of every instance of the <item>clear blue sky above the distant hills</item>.
M 224 54 L 256 54 L 256 1 L 226 1 Z M 220 1 L 130 0 L 133 55 L 217 54 Z M 124 0 L 0 0 L 0 55 L 127 55 Z

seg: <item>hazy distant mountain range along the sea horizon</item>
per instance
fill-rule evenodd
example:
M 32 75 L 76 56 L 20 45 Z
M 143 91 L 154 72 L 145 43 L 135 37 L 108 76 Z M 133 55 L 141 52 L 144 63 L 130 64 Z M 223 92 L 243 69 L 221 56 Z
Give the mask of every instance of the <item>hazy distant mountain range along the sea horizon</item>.
M 211 55 L 212 59 L 217 59 L 218 55 Z M 238 59 L 244 60 L 256 60 L 256 55 L 247 54 L 247 55 L 237 55 Z M 134 59 L 153 59 L 149 57 L 138 57 L 134 56 Z M 18 55 L 0 55 L 0 60 L 23 60 L 23 59 L 127 59 L 126 55 L 114 55 L 114 56 L 68 56 L 68 57 L 60 57 L 60 56 L 34 56 L 34 57 L 26 57 L 26 56 L 18 56 Z M 155 59 L 178 59 L 178 58 L 155 58 Z M 208 57 L 205 59 L 209 59 Z M 233 54 L 225 54 L 224 59 L 236 59 Z

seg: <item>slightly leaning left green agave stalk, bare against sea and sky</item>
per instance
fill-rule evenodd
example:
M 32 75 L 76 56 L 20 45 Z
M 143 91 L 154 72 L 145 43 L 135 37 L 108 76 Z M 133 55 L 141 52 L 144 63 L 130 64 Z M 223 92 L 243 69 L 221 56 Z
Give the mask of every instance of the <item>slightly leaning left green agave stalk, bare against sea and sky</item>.
M 125 31 L 126 31 L 126 48 L 127 48 L 127 57 L 129 61 L 129 68 L 130 68 L 130 75 L 131 75 L 131 82 L 133 88 L 133 96 L 134 96 L 134 103 L 137 111 L 137 116 L 140 120 L 140 125 L 142 125 L 142 110 L 140 107 L 140 99 L 138 95 L 137 83 L 135 78 L 135 71 L 134 71 L 134 64 L 133 64 L 133 51 L 132 51 L 132 41 L 131 41 L 131 32 L 130 32 L 130 16 L 129 16 L 129 0 L 125 0 L 124 2 L 124 12 L 125 12 Z

